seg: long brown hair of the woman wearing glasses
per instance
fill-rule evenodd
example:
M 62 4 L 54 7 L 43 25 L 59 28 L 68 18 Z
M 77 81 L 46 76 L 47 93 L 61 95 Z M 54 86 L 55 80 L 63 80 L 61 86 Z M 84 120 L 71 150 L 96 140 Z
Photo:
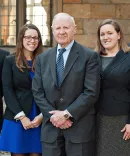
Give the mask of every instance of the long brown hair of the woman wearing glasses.
M 40 54 L 42 52 L 42 50 L 43 50 L 42 38 L 41 38 L 41 33 L 40 33 L 39 29 L 33 24 L 25 24 L 19 31 L 17 44 L 16 44 L 16 54 L 15 54 L 16 66 L 22 72 L 23 72 L 23 68 L 30 69 L 30 67 L 28 66 L 27 60 L 24 57 L 24 52 L 23 52 L 23 49 L 24 49 L 24 47 L 23 47 L 23 38 L 24 38 L 24 35 L 25 35 L 25 31 L 28 30 L 28 29 L 36 30 L 37 33 L 38 33 L 38 38 L 39 38 L 38 46 L 34 50 L 34 52 L 32 53 L 32 68 L 31 68 L 32 71 L 35 70 L 36 56 L 38 54 Z

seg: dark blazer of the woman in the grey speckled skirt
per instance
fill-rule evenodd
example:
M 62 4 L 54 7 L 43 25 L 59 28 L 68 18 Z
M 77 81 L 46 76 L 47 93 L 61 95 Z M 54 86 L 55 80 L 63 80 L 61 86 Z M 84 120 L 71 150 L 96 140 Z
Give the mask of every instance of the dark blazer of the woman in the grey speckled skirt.
M 98 112 L 107 116 L 130 116 L 130 52 L 120 50 L 106 69 L 101 71 L 96 107 Z

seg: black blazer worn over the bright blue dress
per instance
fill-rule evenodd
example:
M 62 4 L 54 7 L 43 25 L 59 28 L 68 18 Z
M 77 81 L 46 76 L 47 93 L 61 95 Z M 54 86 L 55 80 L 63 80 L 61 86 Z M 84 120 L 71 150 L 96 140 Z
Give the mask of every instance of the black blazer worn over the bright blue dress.
M 6 103 L 4 117 L 12 120 L 19 112 L 27 115 L 32 106 L 32 80 L 28 69 L 21 72 L 15 64 L 15 56 L 7 56 L 2 71 L 3 92 Z

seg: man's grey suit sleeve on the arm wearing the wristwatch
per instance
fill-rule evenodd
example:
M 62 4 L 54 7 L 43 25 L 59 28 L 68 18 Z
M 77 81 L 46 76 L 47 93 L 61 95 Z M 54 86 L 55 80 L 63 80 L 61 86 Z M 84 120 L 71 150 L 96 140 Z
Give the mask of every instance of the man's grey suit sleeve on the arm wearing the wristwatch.
M 94 53 L 86 64 L 84 90 L 67 108 L 75 120 L 79 120 L 94 106 L 100 90 L 100 72 L 98 55 Z

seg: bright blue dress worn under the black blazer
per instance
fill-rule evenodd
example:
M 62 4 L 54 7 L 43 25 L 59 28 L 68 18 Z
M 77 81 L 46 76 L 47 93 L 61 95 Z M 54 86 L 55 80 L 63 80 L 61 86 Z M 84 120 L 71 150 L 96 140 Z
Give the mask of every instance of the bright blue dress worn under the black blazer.
M 31 61 L 28 61 L 31 66 Z M 34 77 L 34 72 L 30 71 L 30 77 Z M 31 111 L 28 115 L 30 120 L 37 116 L 37 107 L 32 103 Z M 4 119 L 2 132 L 0 135 L 0 151 L 11 153 L 42 153 L 40 142 L 41 126 L 25 130 L 21 121 Z

